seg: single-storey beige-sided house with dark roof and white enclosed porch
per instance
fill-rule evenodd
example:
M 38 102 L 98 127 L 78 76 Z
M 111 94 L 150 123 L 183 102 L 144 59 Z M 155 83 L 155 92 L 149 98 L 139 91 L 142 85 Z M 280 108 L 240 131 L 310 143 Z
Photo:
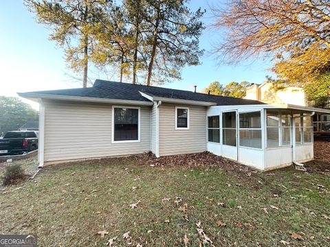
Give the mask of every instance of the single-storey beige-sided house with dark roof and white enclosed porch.
M 40 167 L 148 151 L 157 157 L 209 151 L 274 169 L 311 160 L 311 116 L 330 113 L 104 80 L 19 95 L 40 103 Z

